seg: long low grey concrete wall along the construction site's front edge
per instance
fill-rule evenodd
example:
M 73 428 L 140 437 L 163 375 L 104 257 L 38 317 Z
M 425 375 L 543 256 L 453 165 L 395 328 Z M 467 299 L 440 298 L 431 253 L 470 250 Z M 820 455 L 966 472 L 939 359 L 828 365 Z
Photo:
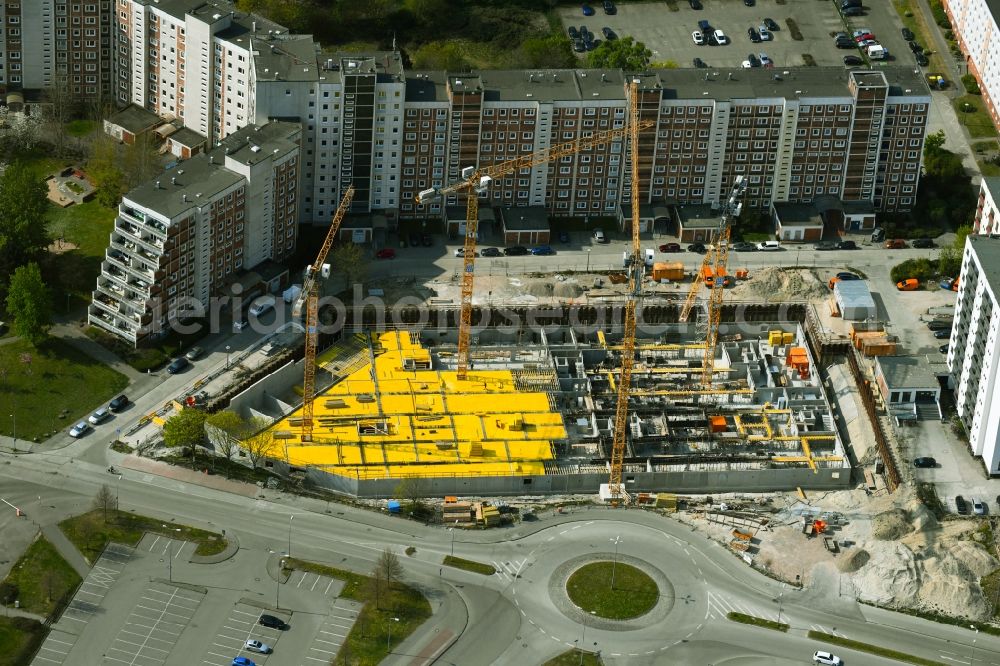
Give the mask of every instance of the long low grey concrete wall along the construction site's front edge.
M 808 468 L 732 471 L 654 472 L 627 475 L 630 493 L 677 492 L 768 492 L 775 490 L 837 490 L 851 483 L 851 470 Z M 310 469 L 309 480 L 316 485 L 358 497 L 390 497 L 400 479 L 358 480 Z M 530 483 L 526 483 L 530 481 Z M 444 477 L 420 479 L 417 487 L 425 497 L 444 495 L 549 495 L 597 493 L 607 474 L 560 474 L 552 476 Z

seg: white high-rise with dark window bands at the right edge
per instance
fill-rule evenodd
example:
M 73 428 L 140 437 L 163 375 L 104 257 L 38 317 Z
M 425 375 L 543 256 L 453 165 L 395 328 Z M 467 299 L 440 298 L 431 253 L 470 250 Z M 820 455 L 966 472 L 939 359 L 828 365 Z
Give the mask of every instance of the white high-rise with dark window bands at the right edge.
M 1000 474 L 1000 239 L 969 235 L 948 345 L 955 407 L 973 455 Z

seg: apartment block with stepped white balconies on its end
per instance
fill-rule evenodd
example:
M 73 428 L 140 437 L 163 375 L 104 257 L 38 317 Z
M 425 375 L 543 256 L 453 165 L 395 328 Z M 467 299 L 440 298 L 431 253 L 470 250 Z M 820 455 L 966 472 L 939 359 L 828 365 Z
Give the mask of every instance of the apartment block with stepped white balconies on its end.
M 88 320 L 141 343 L 209 307 L 244 270 L 281 262 L 298 231 L 301 129 L 249 126 L 130 191 L 118 208 Z

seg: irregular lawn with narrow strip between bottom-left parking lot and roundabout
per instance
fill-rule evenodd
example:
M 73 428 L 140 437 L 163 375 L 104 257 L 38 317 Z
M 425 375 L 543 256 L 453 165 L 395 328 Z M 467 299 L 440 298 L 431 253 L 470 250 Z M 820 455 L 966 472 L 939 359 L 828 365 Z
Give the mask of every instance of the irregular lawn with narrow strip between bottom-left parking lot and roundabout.
M 376 608 L 368 576 L 294 557 L 285 560 L 285 567 L 342 580 L 345 584 L 340 596 L 364 603 L 347 634 L 346 643 L 330 663 L 381 663 L 388 656 L 390 646 L 395 648 L 402 643 L 431 616 L 431 605 L 426 597 L 405 583 L 393 583 L 388 592 L 383 591 Z

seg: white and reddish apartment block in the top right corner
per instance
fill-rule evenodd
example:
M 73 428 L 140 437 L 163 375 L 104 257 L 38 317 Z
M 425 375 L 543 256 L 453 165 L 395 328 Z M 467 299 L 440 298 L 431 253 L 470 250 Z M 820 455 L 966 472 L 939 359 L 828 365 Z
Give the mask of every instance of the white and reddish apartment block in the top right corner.
M 1000 126 L 1000 4 L 995 0 L 942 0 L 969 73 L 976 77 L 993 124 Z

